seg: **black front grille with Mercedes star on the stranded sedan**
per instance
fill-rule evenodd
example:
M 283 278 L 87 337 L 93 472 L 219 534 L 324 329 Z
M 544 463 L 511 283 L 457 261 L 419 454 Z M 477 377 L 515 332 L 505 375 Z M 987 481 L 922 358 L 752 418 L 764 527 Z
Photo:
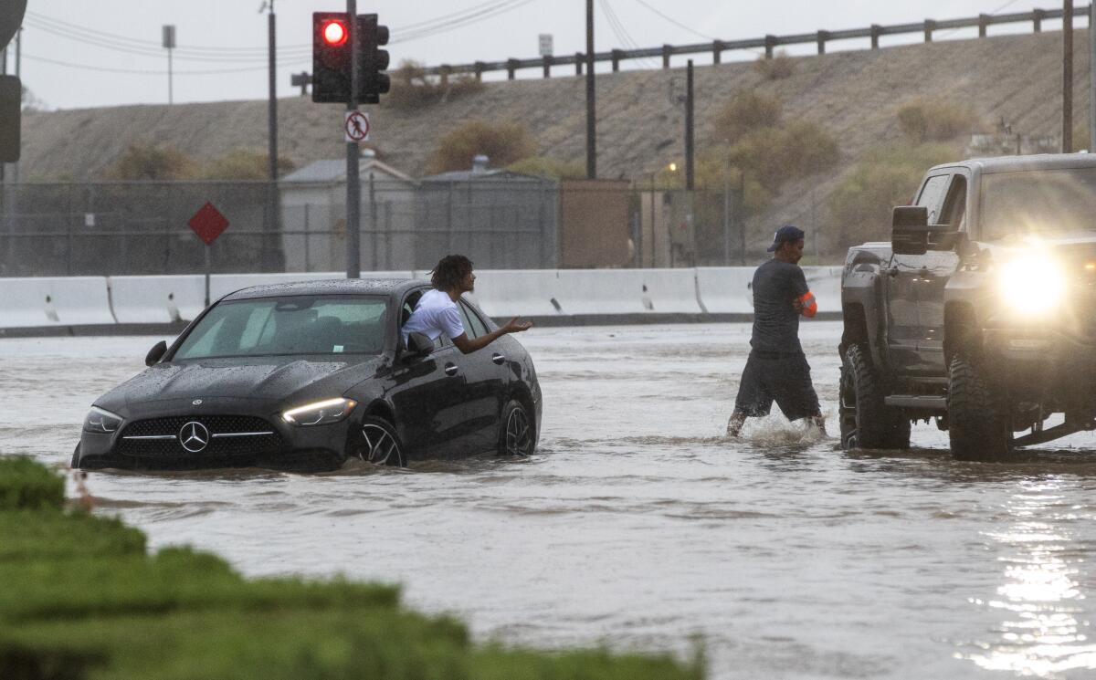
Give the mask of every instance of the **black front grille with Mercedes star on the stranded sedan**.
M 191 423 L 201 427 L 183 433 Z M 195 434 L 192 430 L 196 430 L 196 439 L 191 438 Z M 181 434 L 190 448 L 183 446 Z M 170 416 L 130 423 L 122 430 L 114 450 L 122 456 L 214 458 L 274 453 L 282 443 L 277 430 L 255 416 Z

